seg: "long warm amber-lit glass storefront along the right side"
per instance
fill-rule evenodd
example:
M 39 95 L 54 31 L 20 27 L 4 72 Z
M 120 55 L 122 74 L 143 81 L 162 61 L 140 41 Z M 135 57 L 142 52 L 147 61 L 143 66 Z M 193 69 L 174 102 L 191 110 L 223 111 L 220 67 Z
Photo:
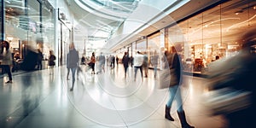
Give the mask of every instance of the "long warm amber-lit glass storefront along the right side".
M 149 52 L 149 56 L 156 50 L 162 55 L 175 46 L 185 72 L 205 73 L 212 61 L 239 52 L 241 40 L 238 38 L 242 32 L 256 26 L 255 16 L 256 1 L 221 3 L 137 40 L 136 46 L 131 45 L 132 55 L 138 50 Z

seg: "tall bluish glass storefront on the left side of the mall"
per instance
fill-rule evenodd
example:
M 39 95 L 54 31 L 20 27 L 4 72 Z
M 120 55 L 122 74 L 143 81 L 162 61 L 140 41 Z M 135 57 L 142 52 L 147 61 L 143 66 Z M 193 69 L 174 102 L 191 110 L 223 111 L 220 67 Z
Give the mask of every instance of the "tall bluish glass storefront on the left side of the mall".
M 40 49 L 44 59 L 55 49 L 55 9 L 38 0 L 4 2 L 4 38 L 14 54 L 24 58 L 27 49 Z

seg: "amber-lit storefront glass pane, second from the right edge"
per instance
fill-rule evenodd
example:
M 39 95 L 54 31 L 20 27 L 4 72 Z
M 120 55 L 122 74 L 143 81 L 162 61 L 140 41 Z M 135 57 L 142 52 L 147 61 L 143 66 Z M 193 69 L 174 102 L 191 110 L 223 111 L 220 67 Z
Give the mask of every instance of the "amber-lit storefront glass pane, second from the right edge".
M 224 56 L 225 47 L 222 45 L 223 26 L 222 16 L 220 15 L 221 6 L 218 5 L 202 13 L 203 15 L 203 55 L 202 59 L 206 64 L 215 60 L 215 56 Z

